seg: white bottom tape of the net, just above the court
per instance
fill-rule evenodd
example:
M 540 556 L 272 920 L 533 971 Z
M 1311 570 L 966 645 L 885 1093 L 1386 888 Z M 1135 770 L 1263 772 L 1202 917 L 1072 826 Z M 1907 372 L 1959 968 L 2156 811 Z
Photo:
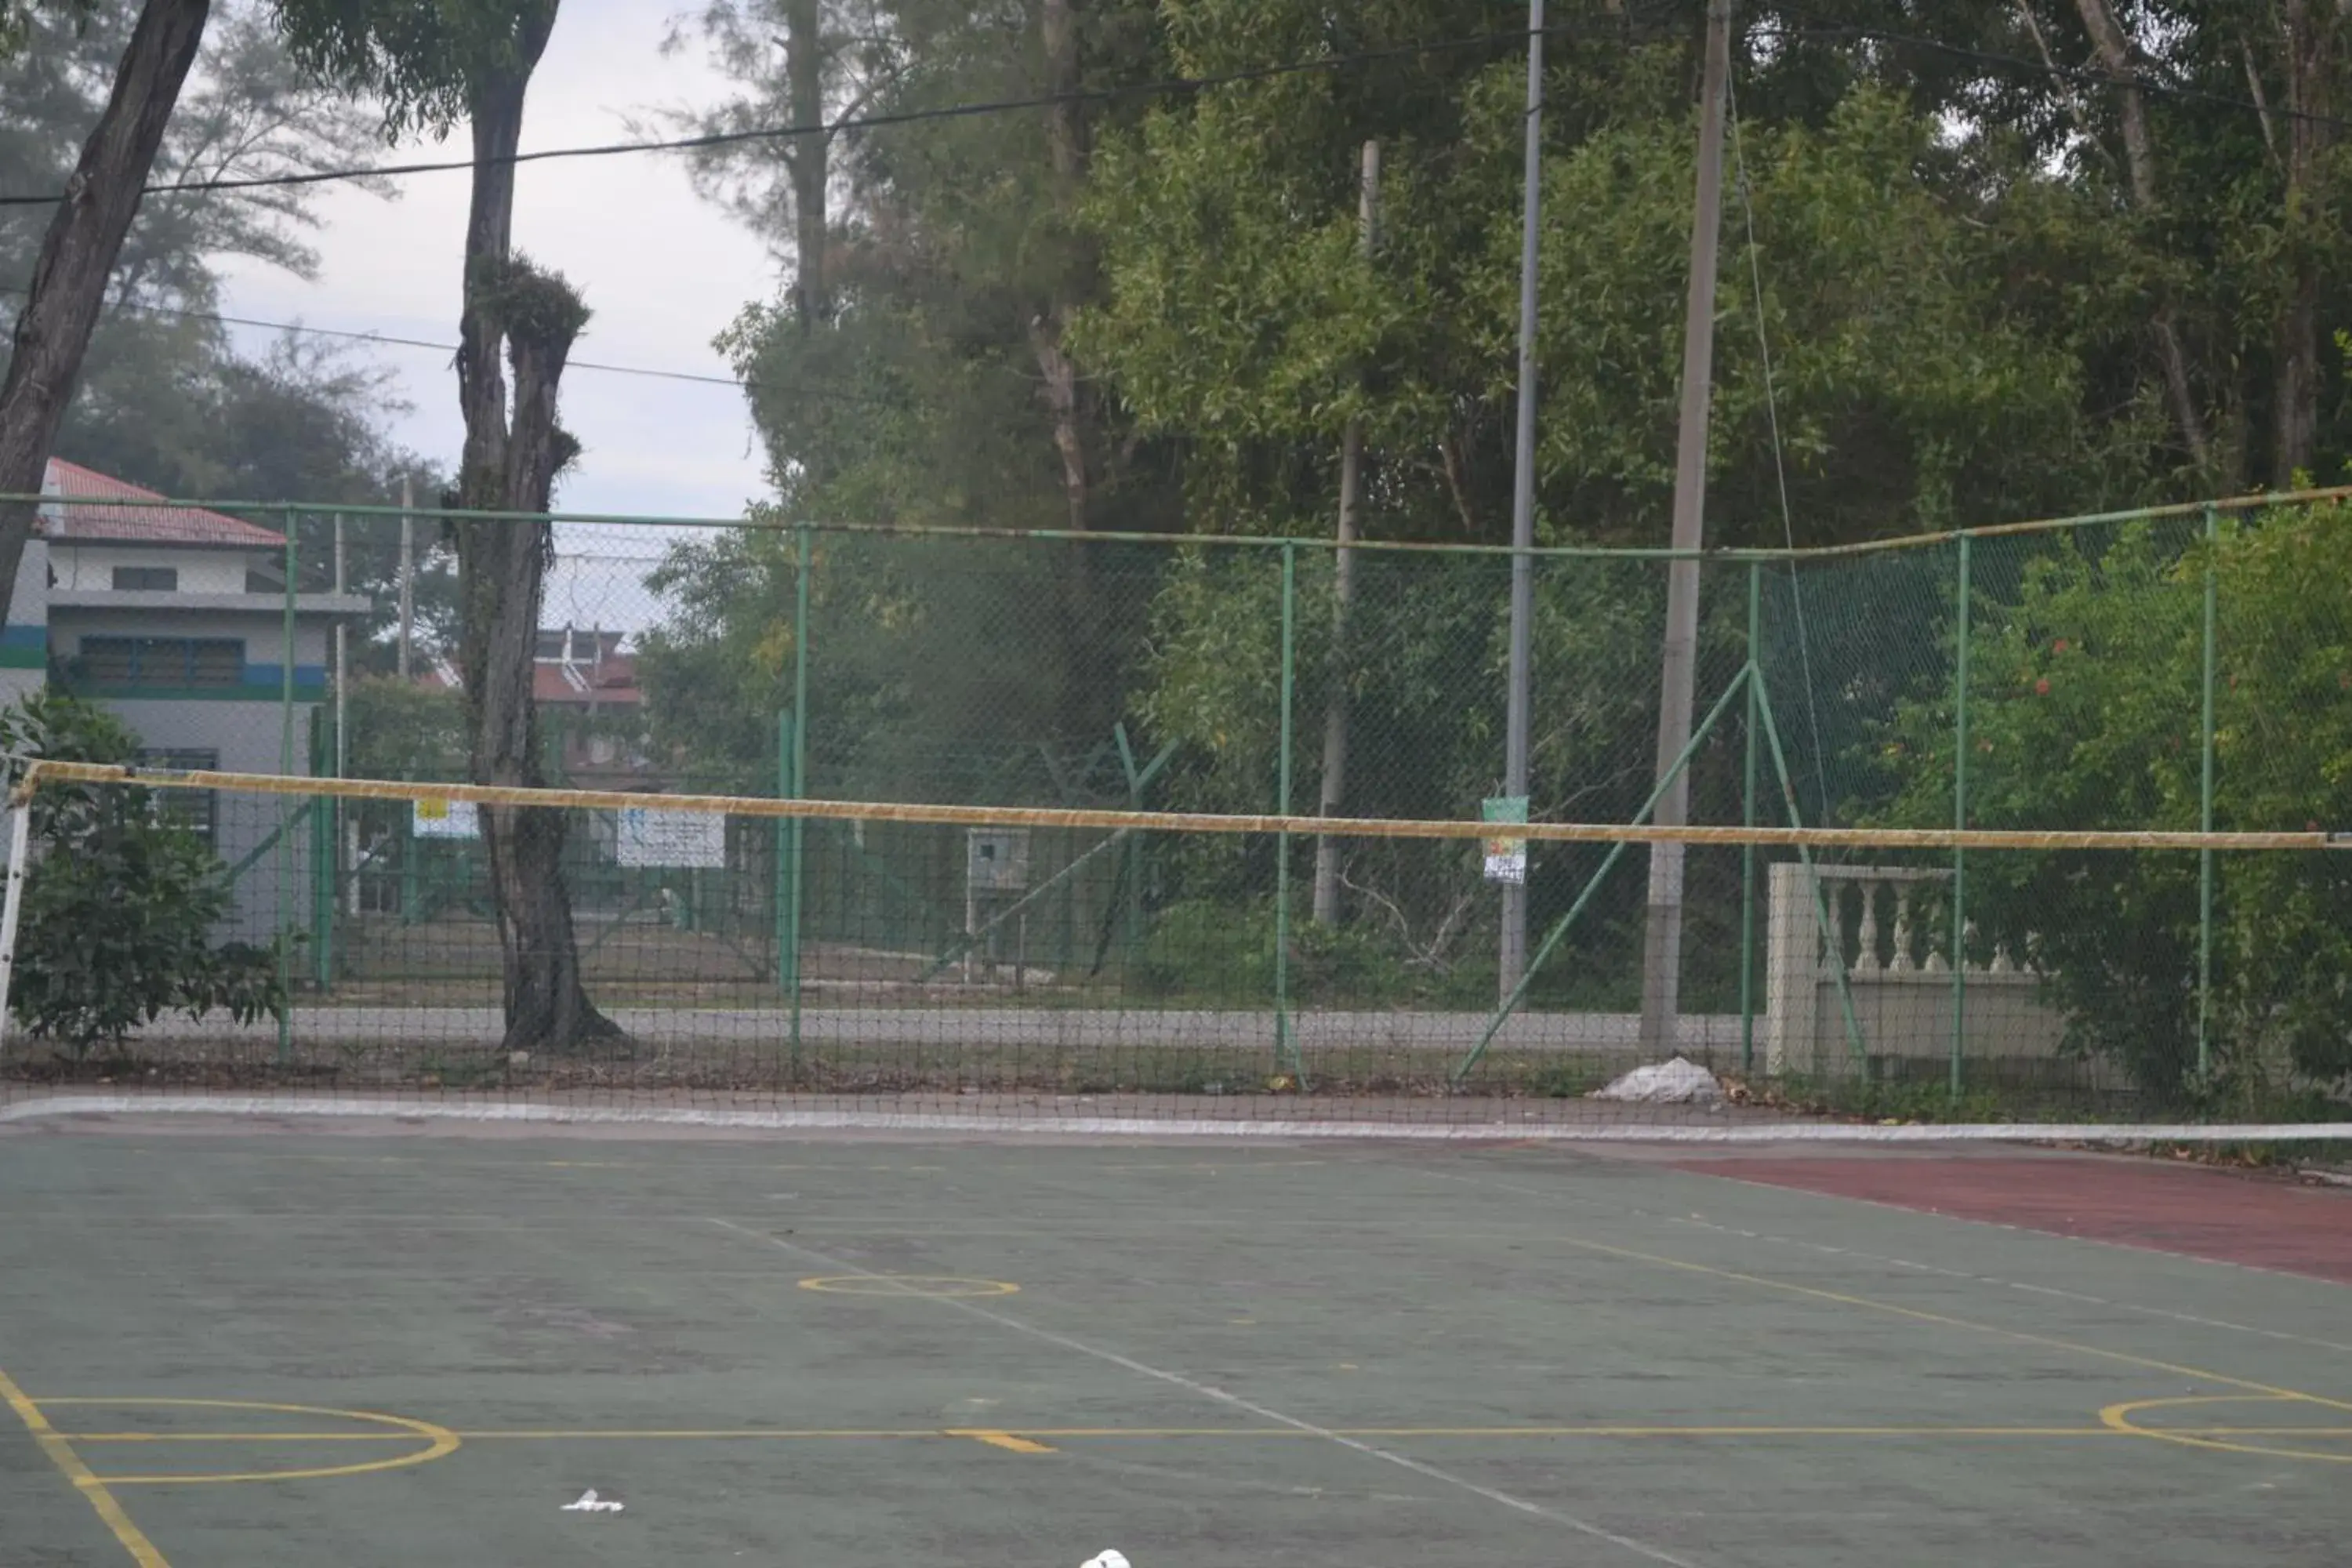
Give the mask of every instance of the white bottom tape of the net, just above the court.
M 1917 1124 L 1853 1121 L 1305 1121 L 1223 1117 L 1056 1117 L 891 1110 L 696 1110 L 670 1105 L 517 1105 L 463 1100 L 336 1100 L 322 1095 L 38 1095 L 0 1105 L 0 1126 L 59 1117 L 332 1117 L 543 1126 L 703 1126 L 762 1133 L 1004 1133 L 1065 1138 L 1341 1138 L 1404 1143 L 2314 1143 L 2352 1140 L 2352 1121 Z

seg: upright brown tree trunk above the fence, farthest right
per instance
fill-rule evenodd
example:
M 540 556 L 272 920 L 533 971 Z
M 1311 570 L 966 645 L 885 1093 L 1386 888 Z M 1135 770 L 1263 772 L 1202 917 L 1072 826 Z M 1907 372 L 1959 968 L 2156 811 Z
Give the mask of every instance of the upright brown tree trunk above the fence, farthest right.
M 2314 14 L 2314 9 L 2319 14 Z M 2333 12 L 2333 14 L 2328 14 Z M 2312 183 L 2336 139 L 2328 78 L 2336 68 L 2340 7 L 2284 0 L 2279 33 L 2286 56 L 2286 266 L 2288 282 L 2274 327 L 2270 397 L 2270 482 L 2291 489 L 2319 444 L 2319 256 L 2312 237 Z M 2317 221 L 2326 221 L 2324 216 Z

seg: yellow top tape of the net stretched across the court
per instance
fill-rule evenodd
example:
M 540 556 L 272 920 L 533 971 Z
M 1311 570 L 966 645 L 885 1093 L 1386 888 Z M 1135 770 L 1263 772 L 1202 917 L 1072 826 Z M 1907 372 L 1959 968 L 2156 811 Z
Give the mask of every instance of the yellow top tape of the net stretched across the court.
M 1359 816 L 1232 816 L 1190 811 L 1110 811 L 1087 806 L 948 806 L 858 799 L 769 799 L 750 795 L 656 795 L 644 790 L 524 790 L 513 785 L 414 783 L 388 778 L 303 778 L 216 769 L 136 769 L 99 762 L 35 759 L 9 797 L 26 806 L 45 783 L 136 783 L 160 790 L 230 790 L 336 799 L 437 799 L 477 806 L 548 806 L 588 811 L 699 811 L 746 818 L 931 823 L 943 827 L 1087 827 L 1134 832 L 1289 832 L 1362 839 L 1486 839 L 1496 823 Z M 2039 827 L 1656 827 L 1649 823 L 1510 823 L 1510 837 L 1541 844 L 1757 844 L 1783 849 L 2343 849 L 2347 832 L 2173 832 Z

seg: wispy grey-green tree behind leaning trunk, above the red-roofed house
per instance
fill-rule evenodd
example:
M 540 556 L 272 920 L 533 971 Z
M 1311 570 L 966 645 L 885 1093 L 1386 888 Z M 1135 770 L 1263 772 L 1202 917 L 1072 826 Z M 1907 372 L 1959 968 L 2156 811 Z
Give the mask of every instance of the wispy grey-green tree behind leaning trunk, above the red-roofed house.
M 0 183 L 54 190 L 73 174 L 136 12 L 108 7 L 80 21 L 47 12 L 28 49 L 0 63 Z M 221 9 L 165 129 L 151 183 L 299 176 L 362 162 L 379 113 L 348 92 L 313 82 L 287 56 L 268 19 L 249 5 Z M 393 195 L 390 186 L 362 181 Z M 386 414 L 402 411 L 390 376 L 350 346 L 287 334 L 240 355 L 219 308 L 221 259 L 247 256 L 313 277 L 306 230 L 322 186 L 158 193 L 139 205 L 115 261 L 106 308 L 56 430 L 54 456 L 146 484 L 167 496 L 299 498 L 306 588 L 332 578 L 339 503 L 388 503 L 409 477 L 423 494 L 442 480 L 393 447 Z M 0 209 L 0 289 L 26 277 L 49 214 Z M 348 581 L 390 588 L 397 522 L 353 520 Z M 421 597 L 440 611 L 447 569 L 428 564 Z M 388 604 L 388 595 L 383 599 Z M 379 616 L 383 621 L 386 616 Z M 365 644 L 362 644 L 365 654 Z

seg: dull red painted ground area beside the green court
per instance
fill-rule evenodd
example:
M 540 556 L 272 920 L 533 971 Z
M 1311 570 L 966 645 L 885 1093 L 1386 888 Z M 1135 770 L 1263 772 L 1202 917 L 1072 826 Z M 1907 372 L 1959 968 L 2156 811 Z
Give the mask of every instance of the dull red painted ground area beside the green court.
M 1717 1157 L 1726 1180 L 2352 1284 L 2352 1190 L 2103 1154 Z

